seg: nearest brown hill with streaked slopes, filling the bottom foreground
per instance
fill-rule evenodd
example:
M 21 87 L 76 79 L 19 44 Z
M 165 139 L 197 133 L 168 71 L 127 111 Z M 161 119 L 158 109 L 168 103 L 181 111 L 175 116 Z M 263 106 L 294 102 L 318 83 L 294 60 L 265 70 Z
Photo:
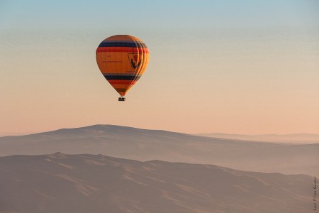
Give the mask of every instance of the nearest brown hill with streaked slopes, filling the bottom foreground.
M 311 212 L 313 178 L 104 155 L 0 158 L 0 212 Z

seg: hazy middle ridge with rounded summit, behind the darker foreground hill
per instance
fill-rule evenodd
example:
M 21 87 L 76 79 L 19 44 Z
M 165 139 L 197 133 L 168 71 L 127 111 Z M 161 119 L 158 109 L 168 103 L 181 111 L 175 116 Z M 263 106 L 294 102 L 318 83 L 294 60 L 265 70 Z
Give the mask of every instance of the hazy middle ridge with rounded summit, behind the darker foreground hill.
M 55 152 L 201 163 L 240 170 L 319 176 L 319 143 L 287 145 L 95 125 L 0 138 L 0 155 Z

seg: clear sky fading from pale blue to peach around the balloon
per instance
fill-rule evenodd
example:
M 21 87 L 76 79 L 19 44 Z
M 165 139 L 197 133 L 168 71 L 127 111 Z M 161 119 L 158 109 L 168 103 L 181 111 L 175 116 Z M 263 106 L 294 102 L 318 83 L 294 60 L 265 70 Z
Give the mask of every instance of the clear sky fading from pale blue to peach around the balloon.
M 150 50 L 118 102 L 108 36 Z M 319 133 L 319 1 L 0 0 L 0 136 L 115 124 L 184 133 Z

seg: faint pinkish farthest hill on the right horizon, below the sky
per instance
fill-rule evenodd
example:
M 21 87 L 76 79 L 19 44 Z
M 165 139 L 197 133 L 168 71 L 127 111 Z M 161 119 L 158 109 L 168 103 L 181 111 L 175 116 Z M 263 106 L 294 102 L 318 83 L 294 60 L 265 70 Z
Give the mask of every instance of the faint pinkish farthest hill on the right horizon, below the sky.
M 226 133 L 199 133 L 197 136 L 206 136 L 213 138 L 228 138 L 244 141 L 263 141 L 263 142 L 277 142 L 277 143 L 319 143 L 318 134 L 310 133 L 296 133 L 296 134 L 267 134 L 267 135 L 238 135 Z

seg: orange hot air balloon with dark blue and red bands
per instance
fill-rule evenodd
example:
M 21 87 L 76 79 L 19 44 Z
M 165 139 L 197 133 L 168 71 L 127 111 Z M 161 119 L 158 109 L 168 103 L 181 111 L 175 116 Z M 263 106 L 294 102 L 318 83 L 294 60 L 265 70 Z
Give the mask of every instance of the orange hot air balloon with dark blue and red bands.
M 96 62 L 103 76 L 125 101 L 125 93 L 140 79 L 150 56 L 145 43 L 133 35 L 113 35 L 96 49 Z

